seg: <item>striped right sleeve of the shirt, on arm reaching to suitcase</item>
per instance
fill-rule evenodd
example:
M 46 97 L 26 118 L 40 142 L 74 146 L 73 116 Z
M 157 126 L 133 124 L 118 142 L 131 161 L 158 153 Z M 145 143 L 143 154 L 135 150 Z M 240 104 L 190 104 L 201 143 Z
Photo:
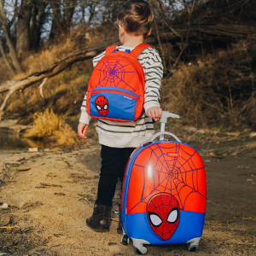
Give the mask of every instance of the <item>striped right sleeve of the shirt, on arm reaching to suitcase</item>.
M 138 56 L 145 74 L 145 100 L 144 110 L 148 108 L 160 108 L 160 85 L 163 78 L 163 65 L 156 49 L 145 49 Z

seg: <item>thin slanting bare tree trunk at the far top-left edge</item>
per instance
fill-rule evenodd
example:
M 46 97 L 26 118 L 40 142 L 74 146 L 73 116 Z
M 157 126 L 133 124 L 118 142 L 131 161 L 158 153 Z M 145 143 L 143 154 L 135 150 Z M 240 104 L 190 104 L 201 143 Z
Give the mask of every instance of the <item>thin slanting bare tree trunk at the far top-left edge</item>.
M 7 44 L 9 46 L 9 53 L 10 53 L 11 59 L 13 61 L 13 64 L 15 66 L 15 69 L 18 72 L 23 73 L 22 67 L 20 66 L 20 62 L 18 61 L 18 58 L 17 58 L 17 55 L 16 55 L 15 46 L 14 46 L 14 44 L 11 41 L 11 38 L 9 36 L 8 22 L 7 22 L 5 10 L 3 9 L 2 0 L 0 0 L 0 17 L 1 17 L 2 24 L 3 24 L 4 35 L 5 35 Z

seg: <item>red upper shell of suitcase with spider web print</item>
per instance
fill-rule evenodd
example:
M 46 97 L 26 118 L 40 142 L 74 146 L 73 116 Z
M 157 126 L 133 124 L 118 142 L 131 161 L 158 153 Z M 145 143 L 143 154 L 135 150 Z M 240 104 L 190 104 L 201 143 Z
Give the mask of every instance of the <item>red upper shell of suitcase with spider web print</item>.
M 128 213 L 145 212 L 148 200 L 158 192 L 173 195 L 181 211 L 205 212 L 205 168 L 195 149 L 182 143 L 145 148 L 133 164 L 129 187 L 136 193 L 128 192 Z

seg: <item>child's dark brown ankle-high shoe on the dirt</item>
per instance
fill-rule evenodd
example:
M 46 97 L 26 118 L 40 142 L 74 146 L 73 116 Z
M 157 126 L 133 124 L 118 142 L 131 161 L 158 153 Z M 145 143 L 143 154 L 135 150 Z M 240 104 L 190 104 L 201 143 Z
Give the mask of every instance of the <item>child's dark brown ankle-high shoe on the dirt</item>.
M 86 219 L 87 226 L 96 232 L 107 232 L 110 226 L 111 208 L 95 204 L 92 216 Z

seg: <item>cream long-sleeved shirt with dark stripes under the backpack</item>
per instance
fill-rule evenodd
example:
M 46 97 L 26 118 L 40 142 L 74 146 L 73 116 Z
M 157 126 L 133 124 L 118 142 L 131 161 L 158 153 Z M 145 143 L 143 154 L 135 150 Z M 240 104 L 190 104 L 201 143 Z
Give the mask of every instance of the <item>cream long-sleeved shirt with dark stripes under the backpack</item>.
M 131 47 L 118 46 L 117 49 L 133 49 Z M 93 59 L 93 66 L 105 55 L 97 55 Z M 156 49 L 146 48 L 138 56 L 137 60 L 143 66 L 145 74 L 145 100 L 144 112 L 141 118 L 131 122 L 112 121 L 98 119 L 96 131 L 99 143 L 113 148 L 137 148 L 141 143 L 147 141 L 154 134 L 152 119 L 146 116 L 148 108 L 160 107 L 160 84 L 163 77 L 163 65 L 160 55 Z M 89 125 L 90 116 L 86 113 L 86 95 L 81 106 L 79 122 Z

